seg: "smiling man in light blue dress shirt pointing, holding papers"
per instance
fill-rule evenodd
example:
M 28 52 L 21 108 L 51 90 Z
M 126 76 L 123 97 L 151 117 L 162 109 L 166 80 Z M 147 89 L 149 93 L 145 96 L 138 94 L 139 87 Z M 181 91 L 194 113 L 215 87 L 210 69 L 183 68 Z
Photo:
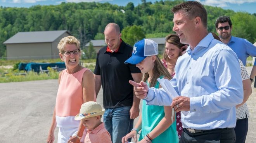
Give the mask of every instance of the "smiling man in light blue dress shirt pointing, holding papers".
M 179 143 L 234 143 L 235 105 L 243 101 L 238 58 L 227 45 L 207 31 L 207 12 L 199 2 L 187 1 L 173 7 L 173 31 L 189 44 L 178 58 L 170 80 L 180 95 L 173 100 L 163 88 L 129 81 L 135 95 L 147 104 L 171 105 L 182 114 L 183 133 Z

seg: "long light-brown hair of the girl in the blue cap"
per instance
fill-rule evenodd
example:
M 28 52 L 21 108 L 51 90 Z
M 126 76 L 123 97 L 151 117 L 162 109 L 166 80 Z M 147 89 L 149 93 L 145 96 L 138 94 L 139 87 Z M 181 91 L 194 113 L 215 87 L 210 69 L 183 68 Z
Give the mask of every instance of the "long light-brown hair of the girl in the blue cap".
M 160 76 L 164 76 L 164 77 L 167 77 L 168 79 L 171 79 L 170 73 L 164 67 L 159 57 L 156 56 L 155 65 L 153 67 L 153 76 L 149 81 L 150 82 L 149 87 L 154 87 L 156 85 L 157 78 Z M 148 78 L 149 78 L 149 73 L 145 73 L 142 78 L 142 81 L 146 82 Z

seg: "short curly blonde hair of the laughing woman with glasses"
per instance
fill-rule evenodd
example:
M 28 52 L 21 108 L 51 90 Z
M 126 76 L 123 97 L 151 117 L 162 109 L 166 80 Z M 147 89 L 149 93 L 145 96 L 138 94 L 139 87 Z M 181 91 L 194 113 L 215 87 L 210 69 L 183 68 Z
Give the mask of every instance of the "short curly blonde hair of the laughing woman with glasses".
M 80 49 L 80 41 L 74 36 L 67 36 L 62 38 L 57 46 L 61 54 L 63 54 L 66 44 L 76 44 L 76 47 Z

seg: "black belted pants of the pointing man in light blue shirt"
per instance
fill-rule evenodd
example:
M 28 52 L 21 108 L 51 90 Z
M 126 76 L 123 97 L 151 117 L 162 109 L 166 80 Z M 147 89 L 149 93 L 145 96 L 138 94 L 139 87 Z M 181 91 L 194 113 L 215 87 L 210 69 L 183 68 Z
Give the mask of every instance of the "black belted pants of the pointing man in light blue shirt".
M 183 129 L 179 143 L 235 143 L 235 131 L 234 128 L 224 128 L 190 133 Z

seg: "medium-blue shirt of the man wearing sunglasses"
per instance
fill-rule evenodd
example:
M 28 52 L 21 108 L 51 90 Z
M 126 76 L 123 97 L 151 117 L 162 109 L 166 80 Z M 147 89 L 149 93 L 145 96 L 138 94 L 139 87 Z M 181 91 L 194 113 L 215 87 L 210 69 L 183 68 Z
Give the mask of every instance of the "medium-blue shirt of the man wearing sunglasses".
M 238 59 L 243 62 L 244 66 L 246 66 L 248 56 L 256 57 L 256 47 L 246 39 L 231 36 L 227 45 L 234 50 Z

